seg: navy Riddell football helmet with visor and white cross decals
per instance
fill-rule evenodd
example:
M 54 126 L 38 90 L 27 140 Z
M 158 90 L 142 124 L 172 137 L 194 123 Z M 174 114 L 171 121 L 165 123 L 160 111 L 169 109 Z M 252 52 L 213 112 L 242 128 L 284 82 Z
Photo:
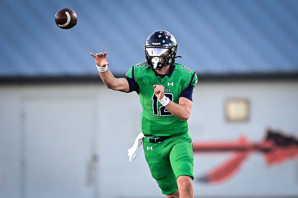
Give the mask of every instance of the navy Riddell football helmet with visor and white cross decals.
M 144 45 L 146 63 L 157 70 L 173 64 L 177 46 L 176 39 L 170 32 L 164 30 L 153 32 Z

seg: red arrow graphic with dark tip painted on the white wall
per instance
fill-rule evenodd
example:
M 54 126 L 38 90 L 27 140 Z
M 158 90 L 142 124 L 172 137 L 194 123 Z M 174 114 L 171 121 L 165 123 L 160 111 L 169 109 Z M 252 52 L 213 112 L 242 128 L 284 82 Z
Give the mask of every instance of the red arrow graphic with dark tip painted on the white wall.
M 193 152 L 234 152 L 228 161 L 197 179 L 216 184 L 234 175 L 252 152 L 263 153 L 268 166 L 298 157 L 298 139 L 269 129 L 260 143 L 250 143 L 244 136 L 236 142 L 194 142 Z

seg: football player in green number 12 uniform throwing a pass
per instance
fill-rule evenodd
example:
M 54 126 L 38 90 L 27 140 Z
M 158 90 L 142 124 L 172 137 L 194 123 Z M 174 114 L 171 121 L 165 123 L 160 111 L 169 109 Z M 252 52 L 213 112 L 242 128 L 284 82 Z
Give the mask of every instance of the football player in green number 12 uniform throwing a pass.
M 142 133 L 136 142 L 143 143 L 151 175 L 162 194 L 171 198 L 193 197 L 193 144 L 187 120 L 198 81 L 194 70 L 175 63 L 181 57 L 176 56 L 177 46 L 170 32 L 153 32 L 144 45 L 145 62 L 132 66 L 126 78 L 114 78 L 106 52 L 91 53 L 107 88 L 138 93 L 143 111 Z

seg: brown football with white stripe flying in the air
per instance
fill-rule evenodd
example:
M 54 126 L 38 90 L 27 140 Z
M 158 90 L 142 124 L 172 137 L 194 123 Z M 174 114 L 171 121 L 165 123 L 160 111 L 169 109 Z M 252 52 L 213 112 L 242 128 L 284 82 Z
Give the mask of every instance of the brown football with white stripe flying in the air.
M 77 25 L 77 14 L 72 9 L 63 8 L 56 13 L 55 22 L 61 29 L 70 29 Z

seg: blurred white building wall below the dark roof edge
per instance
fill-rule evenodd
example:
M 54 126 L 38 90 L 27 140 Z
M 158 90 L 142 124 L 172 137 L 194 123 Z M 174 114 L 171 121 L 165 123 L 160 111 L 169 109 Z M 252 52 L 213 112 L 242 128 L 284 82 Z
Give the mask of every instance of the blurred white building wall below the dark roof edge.
M 224 117 L 228 98 L 249 100 L 245 123 Z M 127 149 L 140 132 L 138 95 L 103 84 L 0 87 L 0 197 L 164 197 L 140 150 Z M 194 89 L 189 131 L 194 142 L 264 139 L 266 128 L 298 136 L 298 82 L 201 83 Z M 94 160 L 93 156 L 98 160 Z M 195 177 L 225 154 L 195 154 Z M 298 196 L 298 157 L 268 167 L 252 153 L 217 185 L 194 181 L 196 197 Z

